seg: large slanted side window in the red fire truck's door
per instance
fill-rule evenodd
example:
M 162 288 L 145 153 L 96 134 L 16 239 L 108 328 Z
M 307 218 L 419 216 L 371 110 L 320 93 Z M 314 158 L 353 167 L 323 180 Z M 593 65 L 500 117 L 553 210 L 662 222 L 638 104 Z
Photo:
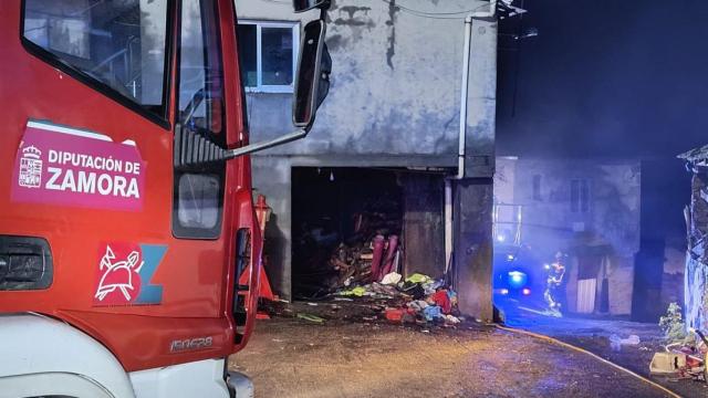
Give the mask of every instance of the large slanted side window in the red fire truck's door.
M 25 0 L 23 23 L 50 59 L 164 117 L 166 0 Z

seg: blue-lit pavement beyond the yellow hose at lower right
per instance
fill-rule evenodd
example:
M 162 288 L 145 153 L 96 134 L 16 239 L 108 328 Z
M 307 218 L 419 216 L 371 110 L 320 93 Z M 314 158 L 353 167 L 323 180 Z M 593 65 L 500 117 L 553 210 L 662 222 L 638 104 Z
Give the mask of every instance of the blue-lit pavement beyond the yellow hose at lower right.
M 708 397 L 708 385 L 702 381 L 653 377 L 649 363 L 655 352 L 664 349 L 662 332 L 656 324 L 618 320 L 549 317 L 529 311 L 518 311 L 507 316 L 512 327 L 555 337 L 562 342 L 585 348 L 615 364 L 622 365 L 642 376 L 648 377 L 683 397 Z M 610 337 L 626 338 L 639 336 L 638 345 L 625 345 L 620 350 L 612 349 Z

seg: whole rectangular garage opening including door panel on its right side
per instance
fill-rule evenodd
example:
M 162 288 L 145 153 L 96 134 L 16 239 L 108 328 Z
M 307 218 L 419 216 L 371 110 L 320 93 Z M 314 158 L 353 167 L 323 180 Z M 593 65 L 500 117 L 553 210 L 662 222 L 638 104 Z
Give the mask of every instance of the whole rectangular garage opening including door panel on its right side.
M 321 297 L 389 272 L 439 276 L 444 270 L 441 175 L 294 167 L 292 187 L 294 298 Z

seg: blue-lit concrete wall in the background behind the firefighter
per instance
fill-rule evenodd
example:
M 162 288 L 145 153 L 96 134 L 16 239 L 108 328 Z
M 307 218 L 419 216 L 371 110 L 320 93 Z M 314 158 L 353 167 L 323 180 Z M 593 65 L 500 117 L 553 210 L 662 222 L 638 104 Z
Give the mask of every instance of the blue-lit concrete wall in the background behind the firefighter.
M 509 163 L 509 161 L 507 161 Z M 498 164 L 501 161 L 498 160 Z M 506 166 L 504 169 L 511 168 Z M 497 178 L 494 192 L 523 207 L 521 241 L 540 259 L 551 261 L 556 251 L 571 254 L 569 275 L 576 274 L 577 256 L 606 258 L 610 313 L 632 312 L 634 255 L 639 250 L 641 167 L 638 161 L 537 160 L 516 161 L 513 179 Z M 540 176 L 540 196 L 534 196 L 533 179 Z M 538 178 L 538 177 L 537 177 Z M 571 210 L 571 181 L 590 184 L 586 212 Z M 509 186 L 512 186 L 509 187 Z M 575 287 L 569 281 L 569 307 L 573 308 Z M 600 291 L 597 292 L 600 294 Z

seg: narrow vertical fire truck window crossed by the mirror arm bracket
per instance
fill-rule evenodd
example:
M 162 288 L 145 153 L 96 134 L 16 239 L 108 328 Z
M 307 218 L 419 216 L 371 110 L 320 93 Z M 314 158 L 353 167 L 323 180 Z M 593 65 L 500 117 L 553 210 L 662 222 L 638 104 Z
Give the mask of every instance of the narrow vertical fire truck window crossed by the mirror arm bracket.
M 223 147 L 223 73 L 216 10 L 215 0 L 181 2 L 177 122 L 189 134 Z M 219 237 L 223 180 L 223 163 L 175 169 L 176 237 Z

